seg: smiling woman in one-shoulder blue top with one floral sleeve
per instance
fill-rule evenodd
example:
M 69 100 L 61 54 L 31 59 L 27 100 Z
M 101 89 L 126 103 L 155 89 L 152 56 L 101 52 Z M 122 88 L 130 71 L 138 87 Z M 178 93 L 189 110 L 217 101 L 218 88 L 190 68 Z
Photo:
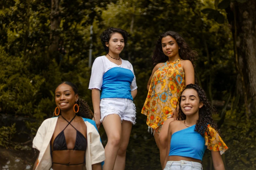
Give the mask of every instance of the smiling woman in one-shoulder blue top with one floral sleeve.
M 186 86 L 179 99 L 179 120 L 170 122 L 164 170 L 202 169 L 206 149 L 211 150 L 215 170 L 225 170 L 221 158 L 228 147 L 218 134 L 211 114 L 215 112 L 205 92 Z

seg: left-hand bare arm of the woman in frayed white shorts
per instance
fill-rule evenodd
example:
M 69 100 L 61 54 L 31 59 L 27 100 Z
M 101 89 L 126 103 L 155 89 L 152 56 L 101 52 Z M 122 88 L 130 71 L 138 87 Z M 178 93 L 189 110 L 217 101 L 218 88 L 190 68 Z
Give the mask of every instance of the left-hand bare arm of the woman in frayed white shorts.
M 100 128 L 100 90 L 92 89 L 92 100 L 94 109 L 94 120 L 96 122 L 97 129 Z

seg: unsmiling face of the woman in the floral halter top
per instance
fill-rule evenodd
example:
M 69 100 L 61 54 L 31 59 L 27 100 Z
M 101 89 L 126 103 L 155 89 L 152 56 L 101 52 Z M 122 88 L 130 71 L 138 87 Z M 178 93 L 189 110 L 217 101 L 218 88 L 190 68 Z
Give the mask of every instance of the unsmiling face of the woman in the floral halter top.
M 179 46 L 177 41 L 170 35 L 162 38 L 162 50 L 164 55 L 176 60 L 179 58 Z

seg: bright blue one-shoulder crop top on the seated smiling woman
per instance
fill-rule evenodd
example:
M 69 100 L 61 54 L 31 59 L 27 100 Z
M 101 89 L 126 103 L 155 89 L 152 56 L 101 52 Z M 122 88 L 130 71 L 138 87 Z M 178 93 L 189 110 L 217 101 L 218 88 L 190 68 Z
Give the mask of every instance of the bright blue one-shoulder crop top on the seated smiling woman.
M 205 149 L 205 138 L 194 131 L 196 125 L 172 134 L 169 156 L 184 156 L 202 161 Z

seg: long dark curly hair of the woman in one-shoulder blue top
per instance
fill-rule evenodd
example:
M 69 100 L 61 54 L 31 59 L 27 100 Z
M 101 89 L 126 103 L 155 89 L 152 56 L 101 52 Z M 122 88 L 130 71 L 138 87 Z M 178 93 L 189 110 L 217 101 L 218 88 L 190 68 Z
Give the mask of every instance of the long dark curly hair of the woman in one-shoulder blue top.
M 203 102 L 204 104 L 201 108 L 199 108 L 199 119 L 196 122 L 195 131 L 198 132 L 203 137 L 205 136 L 205 132 L 207 133 L 208 136 L 211 136 L 209 132 L 209 128 L 207 127 L 208 124 L 210 124 L 212 128 L 214 128 L 217 132 L 219 132 L 212 118 L 212 114 L 215 114 L 216 110 L 214 107 L 212 107 L 211 103 L 208 101 L 204 90 L 196 84 L 188 84 L 182 92 L 184 92 L 186 89 L 194 89 L 199 96 L 200 102 Z M 180 102 L 181 102 L 181 97 L 179 98 L 178 119 L 185 120 L 186 115 L 181 110 Z

